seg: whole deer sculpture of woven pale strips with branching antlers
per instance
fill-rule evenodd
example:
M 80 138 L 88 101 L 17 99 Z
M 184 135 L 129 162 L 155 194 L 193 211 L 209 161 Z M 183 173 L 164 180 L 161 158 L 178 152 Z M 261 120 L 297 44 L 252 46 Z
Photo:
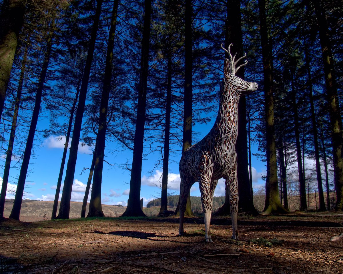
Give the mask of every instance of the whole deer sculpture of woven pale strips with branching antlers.
M 257 83 L 246 82 L 235 74 L 240 67 L 238 62 L 246 57 L 232 57 L 229 45 L 229 59 L 224 63 L 224 79 L 220 87 L 220 104 L 215 123 L 210 132 L 197 144 L 182 153 L 179 170 L 180 185 L 180 224 L 179 235 L 184 235 L 184 214 L 187 196 L 191 186 L 199 182 L 202 209 L 205 222 L 205 239 L 212 242 L 210 223 L 214 189 L 218 179 L 224 178 L 229 189 L 230 213 L 232 220 L 232 238 L 238 240 L 238 183 L 237 183 L 237 154 L 235 144 L 238 133 L 238 102 L 241 95 L 256 91 Z

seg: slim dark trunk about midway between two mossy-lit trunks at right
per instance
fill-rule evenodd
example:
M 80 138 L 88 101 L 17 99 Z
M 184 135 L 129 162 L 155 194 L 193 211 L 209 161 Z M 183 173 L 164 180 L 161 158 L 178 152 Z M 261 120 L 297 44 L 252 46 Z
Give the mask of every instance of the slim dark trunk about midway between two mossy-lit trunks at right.
M 299 115 L 298 115 L 298 107 L 296 103 L 296 95 L 294 90 L 294 81 L 293 77 L 291 80 L 292 85 L 292 103 L 293 103 L 293 119 L 294 119 L 294 135 L 295 135 L 295 147 L 297 152 L 297 163 L 298 163 L 298 176 L 299 176 L 299 192 L 300 192 L 300 210 L 305 211 L 307 210 L 306 204 L 306 186 L 305 186 L 305 179 L 303 174 L 303 163 L 301 157 L 301 147 L 300 147 L 300 133 L 299 133 Z

